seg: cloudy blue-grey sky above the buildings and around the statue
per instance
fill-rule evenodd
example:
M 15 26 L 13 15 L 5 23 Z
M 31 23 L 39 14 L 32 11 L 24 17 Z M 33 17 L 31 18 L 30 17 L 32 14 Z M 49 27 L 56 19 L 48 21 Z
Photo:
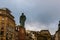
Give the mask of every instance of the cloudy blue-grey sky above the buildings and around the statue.
M 0 0 L 0 8 L 8 8 L 19 25 L 21 13 L 25 13 L 27 30 L 49 30 L 54 34 L 60 20 L 60 0 Z

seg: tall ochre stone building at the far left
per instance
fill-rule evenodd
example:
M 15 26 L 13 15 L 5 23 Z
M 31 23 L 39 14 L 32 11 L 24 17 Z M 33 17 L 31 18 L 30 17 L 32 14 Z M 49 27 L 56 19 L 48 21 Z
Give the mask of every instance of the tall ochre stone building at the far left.
M 0 9 L 0 40 L 14 40 L 14 17 L 7 8 Z

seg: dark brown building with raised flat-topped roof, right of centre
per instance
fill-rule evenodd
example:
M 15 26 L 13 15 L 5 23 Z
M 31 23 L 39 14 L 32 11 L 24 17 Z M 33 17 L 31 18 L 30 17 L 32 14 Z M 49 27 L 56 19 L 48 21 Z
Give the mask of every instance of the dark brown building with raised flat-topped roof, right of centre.
M 51 34 L 48 30 L 41 30 L 37 38 L 38 40 L 51 40 Z

